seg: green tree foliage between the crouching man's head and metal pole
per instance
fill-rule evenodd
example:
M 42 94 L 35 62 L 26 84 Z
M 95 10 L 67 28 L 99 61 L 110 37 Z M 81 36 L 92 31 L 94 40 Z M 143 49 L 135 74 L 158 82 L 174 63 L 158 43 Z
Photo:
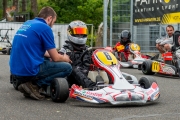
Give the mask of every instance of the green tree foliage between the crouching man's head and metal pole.
M 48 0 L 40 2 L 40 8 L 51 6 L 57 13 L 58 23 L 82 20 L 96 28 L 103 20 L 102 0 Z

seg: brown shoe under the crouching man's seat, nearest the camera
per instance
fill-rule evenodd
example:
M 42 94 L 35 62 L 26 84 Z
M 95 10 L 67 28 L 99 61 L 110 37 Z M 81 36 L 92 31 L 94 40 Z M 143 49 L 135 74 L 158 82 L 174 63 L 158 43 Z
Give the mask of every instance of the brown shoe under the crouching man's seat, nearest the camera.
M 21 86 L 32 98 L 36 100 L 43 100 L 45 98 L 43 95 L 40 95 L 37 85 L 33 85 L 31 82 L 26 82 Z

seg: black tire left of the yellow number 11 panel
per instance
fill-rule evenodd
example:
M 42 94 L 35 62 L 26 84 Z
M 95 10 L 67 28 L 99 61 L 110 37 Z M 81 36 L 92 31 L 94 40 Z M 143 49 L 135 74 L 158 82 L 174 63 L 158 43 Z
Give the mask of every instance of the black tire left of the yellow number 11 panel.
M 154 75 L 155 72 L 152 72 L 152 60 L 143 61 L 141 70 L 145 75 Z

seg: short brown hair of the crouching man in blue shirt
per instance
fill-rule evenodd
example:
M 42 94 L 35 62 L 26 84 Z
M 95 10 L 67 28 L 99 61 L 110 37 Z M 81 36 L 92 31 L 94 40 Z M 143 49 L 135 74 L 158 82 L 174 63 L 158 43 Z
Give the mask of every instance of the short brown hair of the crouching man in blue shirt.
M 43 18 L 43 19 L 46 19 L 49 16 L 52 16 L 54 18 L 55 16 L 57 17 L 57 14 L 53 8 L 48 7 L 48 6 L 43 7 L 38 14 L 38 17 Z

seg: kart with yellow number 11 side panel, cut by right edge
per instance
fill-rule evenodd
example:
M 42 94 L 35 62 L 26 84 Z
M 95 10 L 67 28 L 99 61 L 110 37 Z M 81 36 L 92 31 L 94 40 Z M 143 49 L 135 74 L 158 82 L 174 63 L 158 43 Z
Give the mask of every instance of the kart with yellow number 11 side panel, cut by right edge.
M 138 66 L 139 70 L 146 75 L 170 75 L 180 76 L 180 32 L 175 31 L 171 52 L 162 54 L 163 59 L 145 60 L 142 65 Z M 179 39 L 179 42 L 178 42 Z

